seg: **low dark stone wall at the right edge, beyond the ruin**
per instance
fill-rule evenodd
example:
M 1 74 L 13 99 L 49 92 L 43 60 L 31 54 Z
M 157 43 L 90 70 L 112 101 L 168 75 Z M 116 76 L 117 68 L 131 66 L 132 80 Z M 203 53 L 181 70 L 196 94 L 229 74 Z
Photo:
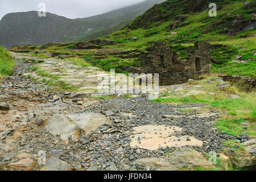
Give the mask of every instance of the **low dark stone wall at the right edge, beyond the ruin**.
M 232 75 L 222 75 L 220 77 L 222 80 L 229 81 L 231 84 L 236 85 L 241 91 L 255 92 L 256 78 Z

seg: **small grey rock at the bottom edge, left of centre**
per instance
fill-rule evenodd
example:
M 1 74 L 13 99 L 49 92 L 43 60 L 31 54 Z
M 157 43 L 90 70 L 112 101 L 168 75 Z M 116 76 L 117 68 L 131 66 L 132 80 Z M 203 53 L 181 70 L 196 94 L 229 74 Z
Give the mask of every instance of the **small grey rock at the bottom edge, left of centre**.
M 64 160 L 50 158 L 40 171 L 71 171 L 73 168 Z

